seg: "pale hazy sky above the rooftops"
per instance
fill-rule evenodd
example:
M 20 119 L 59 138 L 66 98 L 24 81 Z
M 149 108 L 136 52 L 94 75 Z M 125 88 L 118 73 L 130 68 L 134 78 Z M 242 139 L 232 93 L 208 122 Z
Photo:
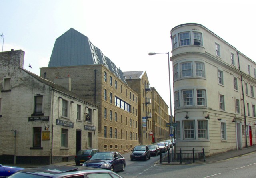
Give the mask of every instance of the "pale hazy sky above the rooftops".
M 255 8 L 253 0 L 1 0 L 0 52 L 25 51 L 24 69 L 40 75 L 56 38 L 74 28 L 122 71 L 146 71 L 174 115 L 172 62 L 170 102 L 168 55 L 148 53 L 171 57 L 171 29 L 198 23 L 256 62 Z

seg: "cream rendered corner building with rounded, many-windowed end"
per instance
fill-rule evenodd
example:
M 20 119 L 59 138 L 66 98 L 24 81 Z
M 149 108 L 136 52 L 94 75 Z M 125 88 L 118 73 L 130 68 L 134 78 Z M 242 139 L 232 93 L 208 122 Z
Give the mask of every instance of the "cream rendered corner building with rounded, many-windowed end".
M 201 24 L 171 30 L 176 150 L 256 144 L 256 63 Z

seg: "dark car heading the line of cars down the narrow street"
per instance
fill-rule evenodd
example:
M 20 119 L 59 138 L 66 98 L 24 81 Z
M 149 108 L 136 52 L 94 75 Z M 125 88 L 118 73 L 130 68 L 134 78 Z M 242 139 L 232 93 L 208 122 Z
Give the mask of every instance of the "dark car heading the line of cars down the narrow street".
M 150 150 L 147 145 L 138 145 L 135 146 L 132 150 L 132 153 L 130 155 L 131 161 L 133 160 L 148 160 L 150 159 Z

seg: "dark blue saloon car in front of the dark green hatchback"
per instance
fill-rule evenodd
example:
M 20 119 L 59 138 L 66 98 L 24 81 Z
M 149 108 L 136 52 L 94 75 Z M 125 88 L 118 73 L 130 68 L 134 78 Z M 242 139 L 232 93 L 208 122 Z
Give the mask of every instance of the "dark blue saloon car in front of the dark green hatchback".
M 124 171 L 126 160 L 119 152 L 96 152 L 83 166 Z

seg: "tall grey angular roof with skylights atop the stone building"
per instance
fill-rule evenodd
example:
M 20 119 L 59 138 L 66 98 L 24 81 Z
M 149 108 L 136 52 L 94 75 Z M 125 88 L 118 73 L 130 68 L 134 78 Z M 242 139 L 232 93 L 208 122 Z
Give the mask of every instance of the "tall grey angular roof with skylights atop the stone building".
M 95 47 L 89 38 L 73 28 L 56 39 L 48 67 L 102 64 L 124 83 L 122 71 Z

